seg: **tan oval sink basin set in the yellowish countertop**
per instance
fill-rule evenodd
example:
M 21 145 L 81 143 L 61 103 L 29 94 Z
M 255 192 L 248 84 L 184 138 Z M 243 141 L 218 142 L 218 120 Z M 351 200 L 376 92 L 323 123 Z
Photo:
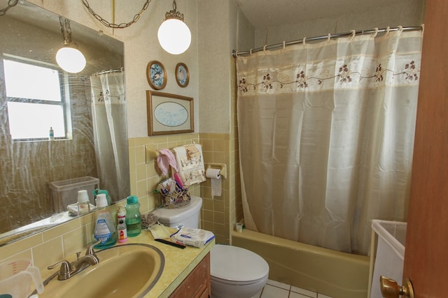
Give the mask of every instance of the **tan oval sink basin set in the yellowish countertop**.
M 96 253 L 99 264 L 65 281 L 53 278 L 39 297 L 144 297 L 165 266 L 162 252 L 147 244 L 124 244 Z

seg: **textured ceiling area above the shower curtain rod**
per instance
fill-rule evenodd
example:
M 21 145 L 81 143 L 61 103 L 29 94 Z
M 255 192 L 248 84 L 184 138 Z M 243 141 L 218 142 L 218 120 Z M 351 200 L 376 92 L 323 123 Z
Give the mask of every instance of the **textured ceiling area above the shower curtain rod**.
M 408 0 L 235 0 L 255 29 L 292 24 L 348 13 L 365 13 L 375 6 Z

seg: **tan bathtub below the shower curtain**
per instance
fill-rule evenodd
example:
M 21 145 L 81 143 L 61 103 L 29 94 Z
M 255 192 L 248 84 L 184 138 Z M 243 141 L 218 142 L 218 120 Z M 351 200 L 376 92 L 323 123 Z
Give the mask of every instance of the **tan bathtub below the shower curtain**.
M 365 298 L 370 258 L 243 230 L 232 245 L 258 253 L 269 264 L 269 279 L 333 298 Z

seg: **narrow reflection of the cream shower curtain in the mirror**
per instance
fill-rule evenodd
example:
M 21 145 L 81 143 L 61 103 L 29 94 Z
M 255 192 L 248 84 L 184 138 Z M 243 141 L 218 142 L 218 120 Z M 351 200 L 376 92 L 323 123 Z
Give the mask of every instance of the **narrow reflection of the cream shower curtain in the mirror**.
M 99 186 L 114 202 L 130 195 L 125 73 L 90 76 Z

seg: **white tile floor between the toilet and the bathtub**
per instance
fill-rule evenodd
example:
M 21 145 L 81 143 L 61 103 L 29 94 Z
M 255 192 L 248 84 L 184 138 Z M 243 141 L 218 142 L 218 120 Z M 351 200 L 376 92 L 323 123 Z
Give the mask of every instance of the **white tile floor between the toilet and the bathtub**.
M 332 298 L 309 290 L 297 288 L 278 281 L 267 281 L 260 298 Z

